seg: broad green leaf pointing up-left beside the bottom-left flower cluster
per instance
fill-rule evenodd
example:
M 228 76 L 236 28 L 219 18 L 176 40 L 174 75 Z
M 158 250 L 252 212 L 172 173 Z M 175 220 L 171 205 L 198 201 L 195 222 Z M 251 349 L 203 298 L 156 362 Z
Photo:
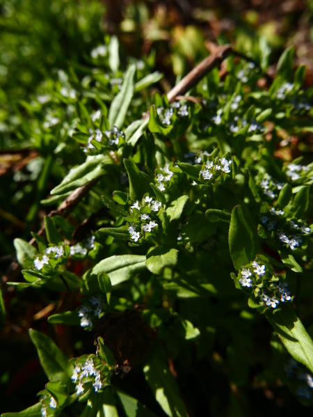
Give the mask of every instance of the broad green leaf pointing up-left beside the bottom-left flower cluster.
M 51 382 L 72 384 L 71 376 L 74 366 L 68 362 L 68 358 L 54 342 L 40 331 L 29 329 L 29 336 L 35 348 L 45 374 Z

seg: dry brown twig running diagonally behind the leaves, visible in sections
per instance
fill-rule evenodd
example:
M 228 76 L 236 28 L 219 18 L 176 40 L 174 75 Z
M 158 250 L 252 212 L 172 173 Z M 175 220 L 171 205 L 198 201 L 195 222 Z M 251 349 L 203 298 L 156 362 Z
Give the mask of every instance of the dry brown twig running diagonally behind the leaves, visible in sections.
M 191 72 L 188 72 L 186 77 L 184 77 L 179 83 L 173 87 L 168 92 L 168 101 L 171 103 L 173 102 L 178 96 L 184 97 L 184 100 L 188 100 L 184 94 L 189 91 L 193 86 L 195 86 L 205 74 L 211 71 L 213 68 L 220 66 L 227 56 L 230 54 L 237 54 L 234 52 L 234 49 L 231 45 L 222 45 L 218 46 L 213 42 L 206 42 L 206 47 L 211 52 L 207 58 L 205 58 L 202 62 L 200 62 Z M 244 57 L 246 58 L 246 57 Z M 250 58 L 248 58 L 250 59 Z M 144 113 L 143 118 L 147 118 L 149 113 Z M 70 196 L 68 196 L 63 203 L 58 207 L 58 210 L 52 210 L 49 212 L 48 216 L 63 216 L 67 217 L 68 214 L 74 209 L 74 207 L 79 203 L 79 201 L 85 196 L 88 191 L 101 179 L 102 177 L 95 178 L 95 180 L 88 182 L 88 184 L 79 187 L 78 189 L 74 190 Z M 38 235 L 42 235 L 45 232 L 45 227 L 42 226 L 38 231 Z M 31 239 L 29 242 L 30 244 L 35 244 L 35 239 Z M 17 276 L 21 268 L 16 260 L 11 262 L 6 274 L 2 276 L 2 282 L 6 283 L 9 281 L 10 278 L 13 276 Z

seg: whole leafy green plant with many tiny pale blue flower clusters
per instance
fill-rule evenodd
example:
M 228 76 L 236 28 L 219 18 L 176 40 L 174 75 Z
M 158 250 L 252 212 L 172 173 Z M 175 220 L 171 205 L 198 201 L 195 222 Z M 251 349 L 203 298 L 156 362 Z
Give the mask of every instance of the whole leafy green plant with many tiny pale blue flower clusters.
M 60 183 L 40 203 L 56 208 L 45 228 L 15 239 L 24 281 L 8 285 L 59 300 L 48 333 L 73 326 L 89 350 L 69 359 L 31 329 L 49 382 L 3 417 L 184 417 L 203 396 L 217 415 L 205 381 L 221 374 L 230 415 L 277 381 L 313 404 L 313 163 L 288 140 L 312 132 L 313 90 L 293 57 L 270 83 L 230 54 L 223 77 L 211 65 L 167 96 L 153 54 L 123 72 L 106 37 L 93 68 L 60 70 L 22 103 L 42 184 L 51 169 Z M 131 375 L 138 396 L 121 388 Z

